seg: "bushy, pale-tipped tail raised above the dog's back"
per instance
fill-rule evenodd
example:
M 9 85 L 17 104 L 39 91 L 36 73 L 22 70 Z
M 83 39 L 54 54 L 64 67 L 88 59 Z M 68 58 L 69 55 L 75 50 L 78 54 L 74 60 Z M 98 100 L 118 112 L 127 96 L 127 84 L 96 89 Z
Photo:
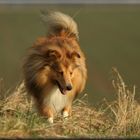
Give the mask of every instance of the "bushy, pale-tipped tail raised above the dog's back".
M 48 34 L 52 36 L 61 36 L 65 34 L 67 37 L 78 36 L 78 28 L 72 17 L 61 12 L 48 12 L 41 15 L 42 21 L 48 26 Z

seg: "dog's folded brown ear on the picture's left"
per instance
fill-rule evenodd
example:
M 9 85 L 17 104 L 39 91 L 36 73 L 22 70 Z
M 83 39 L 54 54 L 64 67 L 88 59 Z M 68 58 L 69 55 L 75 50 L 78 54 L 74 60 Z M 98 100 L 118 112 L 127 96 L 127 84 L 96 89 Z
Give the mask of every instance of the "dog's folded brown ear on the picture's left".
M 60 55 L 60 53 L 57 50 L 49 49 L 46 52 L 46 57 L 49 57 L 49 58 L 60 58 L 61 55 Z

